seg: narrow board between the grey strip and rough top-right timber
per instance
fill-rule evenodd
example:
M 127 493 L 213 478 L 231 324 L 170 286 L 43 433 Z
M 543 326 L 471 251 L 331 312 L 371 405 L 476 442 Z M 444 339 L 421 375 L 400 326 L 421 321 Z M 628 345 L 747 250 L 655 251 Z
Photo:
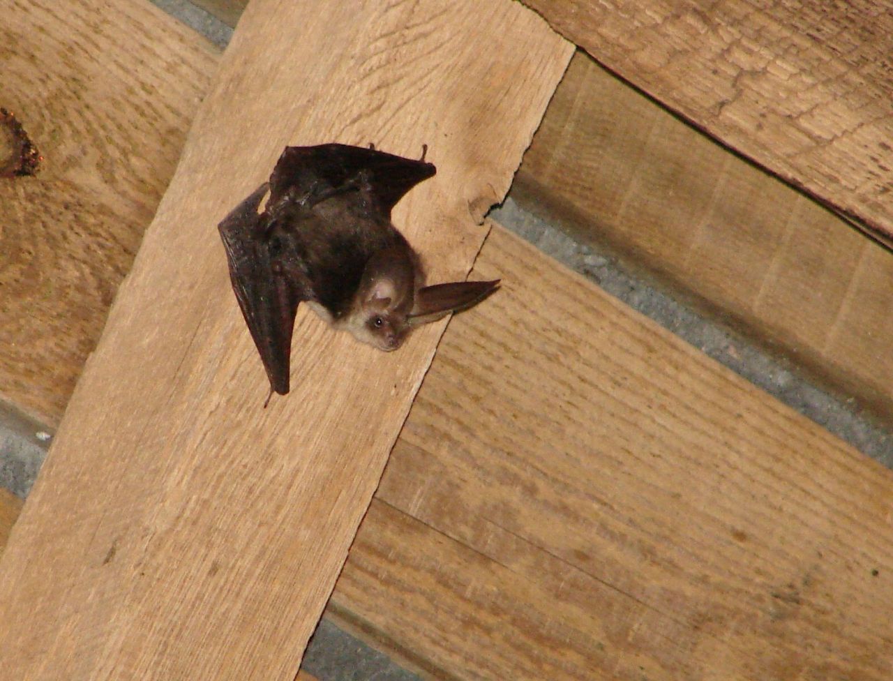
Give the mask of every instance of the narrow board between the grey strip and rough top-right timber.
M 513 196 L 893 417 L 893 254 L 585 55 Z

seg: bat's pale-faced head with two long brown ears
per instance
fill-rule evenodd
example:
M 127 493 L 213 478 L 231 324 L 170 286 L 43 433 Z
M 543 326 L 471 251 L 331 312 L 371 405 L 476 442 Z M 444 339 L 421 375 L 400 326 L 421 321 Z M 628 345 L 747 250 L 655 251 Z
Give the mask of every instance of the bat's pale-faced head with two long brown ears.
M 472 307 L 496 290 L 495 282 L 450 282 L 415 289 L 421 278 L 411 252 L 388 248 L 373 256 L 363 272 L 344 327 L 358 341 L 396 350 L 415 326 Z

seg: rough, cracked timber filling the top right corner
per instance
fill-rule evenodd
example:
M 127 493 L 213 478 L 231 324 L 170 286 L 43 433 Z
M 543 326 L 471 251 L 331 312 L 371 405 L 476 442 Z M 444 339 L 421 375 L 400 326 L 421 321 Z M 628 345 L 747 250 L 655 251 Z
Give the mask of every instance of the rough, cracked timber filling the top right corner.
M 893 239 L 885 4 L 525 2 L 697 127 Z

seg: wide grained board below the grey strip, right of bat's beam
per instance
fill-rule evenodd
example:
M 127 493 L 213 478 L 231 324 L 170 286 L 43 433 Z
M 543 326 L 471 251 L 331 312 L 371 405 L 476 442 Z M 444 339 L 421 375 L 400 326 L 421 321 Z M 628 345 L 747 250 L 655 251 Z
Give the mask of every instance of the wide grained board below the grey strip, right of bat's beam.
M 893 472 L 505 231 L 474 273 L 338 612 L 435 677 L 889 678 Z

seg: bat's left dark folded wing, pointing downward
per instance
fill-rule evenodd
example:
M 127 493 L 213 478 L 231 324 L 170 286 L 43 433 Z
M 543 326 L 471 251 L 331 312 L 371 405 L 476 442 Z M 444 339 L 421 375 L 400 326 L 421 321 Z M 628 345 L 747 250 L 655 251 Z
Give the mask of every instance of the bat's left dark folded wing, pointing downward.
M 230 281 L 236 292 L 248 330 L 261 353 L 271 388 L 288 392 L 291 334 L 303 291 L 285 273 L 274 272 L 268 240 L 260 229 L 263 184 L 236 206 L 217 226 L 230 265 Z

